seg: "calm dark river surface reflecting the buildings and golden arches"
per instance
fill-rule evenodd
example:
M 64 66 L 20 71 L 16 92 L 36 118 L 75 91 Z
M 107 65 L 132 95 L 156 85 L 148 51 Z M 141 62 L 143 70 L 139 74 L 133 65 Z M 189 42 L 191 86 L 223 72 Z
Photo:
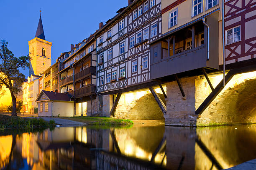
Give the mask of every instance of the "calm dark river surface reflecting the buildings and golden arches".
M 256 125 L 60 127 L 0 135 L 0 169 L 215 170 L 256 158 Z

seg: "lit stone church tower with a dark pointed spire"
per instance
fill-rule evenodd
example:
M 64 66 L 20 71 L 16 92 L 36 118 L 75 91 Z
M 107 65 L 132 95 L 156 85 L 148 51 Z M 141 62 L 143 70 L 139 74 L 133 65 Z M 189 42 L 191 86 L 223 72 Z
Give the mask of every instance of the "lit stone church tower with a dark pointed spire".
M 40 18 L 36 30 L 36 36 L 32 40 L 28 41 L 30 57 L 30 69 L 29 76 L 40 75 L 48 67 L 51 66 L 51 42 L 45 40 L 44 28 L 41 18 Z

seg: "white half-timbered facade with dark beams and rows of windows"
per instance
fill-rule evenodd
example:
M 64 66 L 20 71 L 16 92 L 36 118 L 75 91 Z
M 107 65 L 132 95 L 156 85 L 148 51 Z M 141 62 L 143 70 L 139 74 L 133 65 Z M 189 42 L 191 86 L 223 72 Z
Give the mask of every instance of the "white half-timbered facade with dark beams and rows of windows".
M 96 33 L 97 92 L 150 81 L 149 45 L 161 36 L 161 0 L 135 0 Z

